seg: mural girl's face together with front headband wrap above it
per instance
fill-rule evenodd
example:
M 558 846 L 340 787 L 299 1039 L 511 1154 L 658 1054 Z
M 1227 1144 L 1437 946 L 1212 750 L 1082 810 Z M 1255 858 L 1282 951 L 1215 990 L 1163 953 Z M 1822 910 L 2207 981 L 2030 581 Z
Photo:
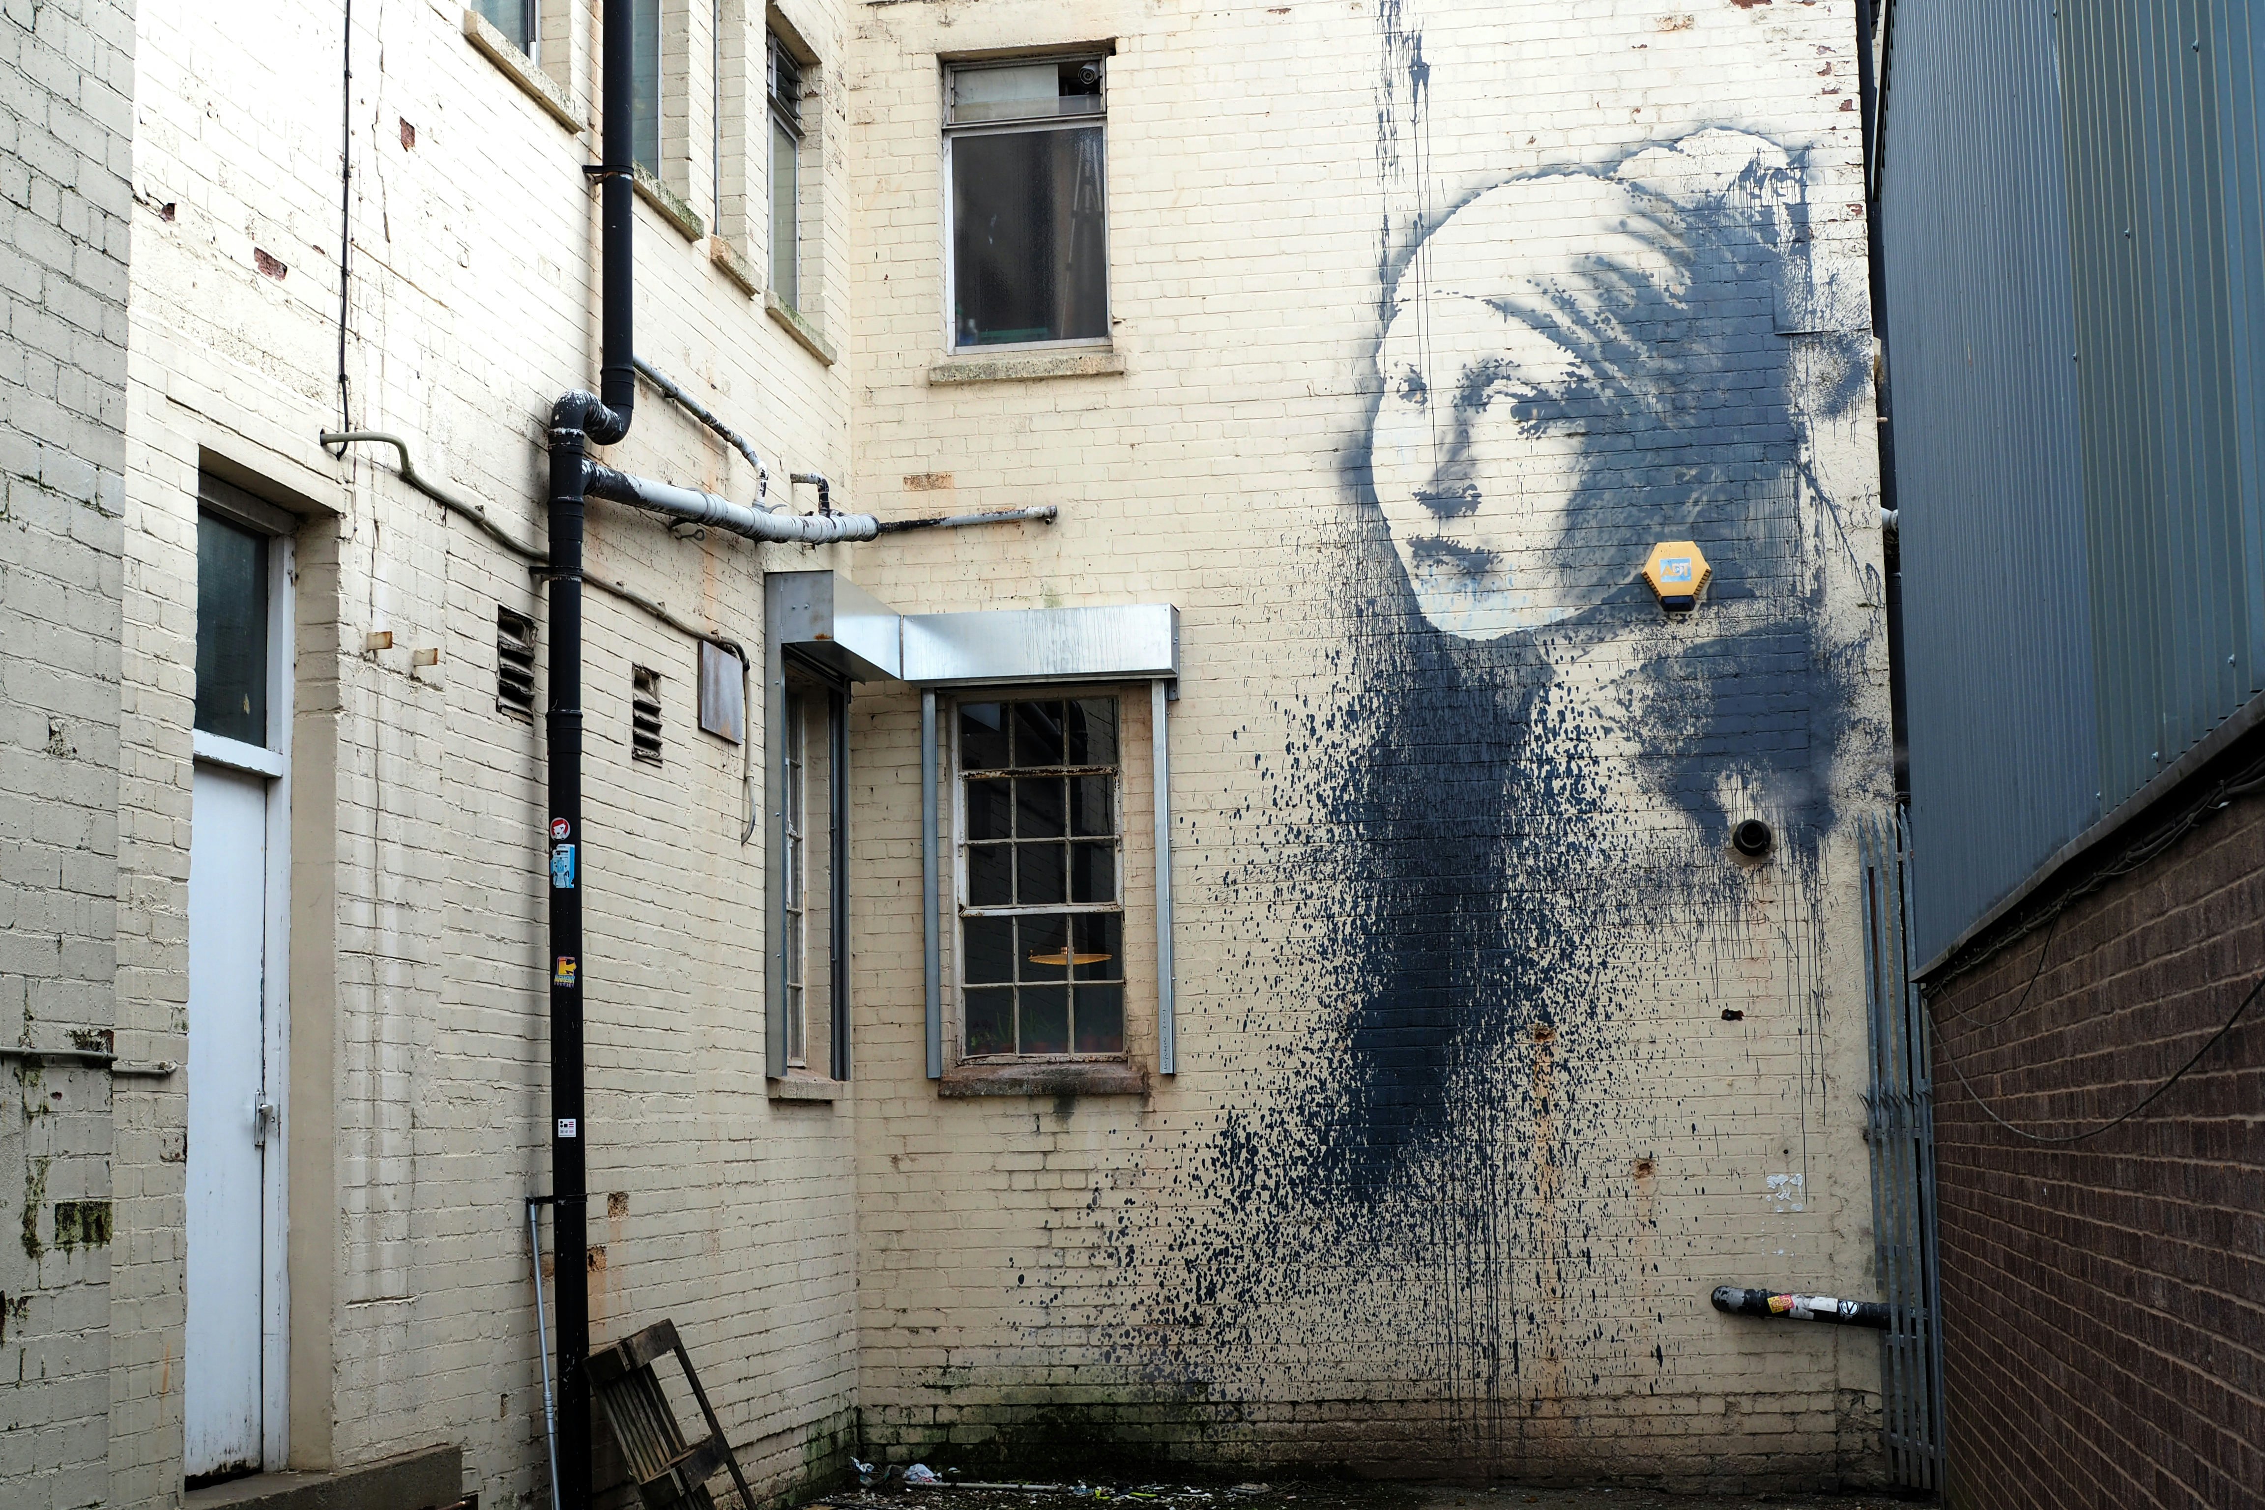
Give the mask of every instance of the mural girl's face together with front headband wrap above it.
M 1368 464 L 1431 625 L 1490 641 L 1629 580 L 1619 537 L 1678 498 L 1644 457 L 1685 288 L 1674 211 L 1592 174 L 1497 186 L 1422 240 L 1377 344 Z

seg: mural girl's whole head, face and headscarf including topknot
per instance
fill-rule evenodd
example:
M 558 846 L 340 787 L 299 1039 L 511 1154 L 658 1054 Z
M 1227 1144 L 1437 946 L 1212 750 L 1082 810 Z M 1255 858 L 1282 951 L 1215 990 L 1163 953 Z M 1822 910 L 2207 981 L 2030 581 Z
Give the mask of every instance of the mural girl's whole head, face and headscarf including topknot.
M 1776 328 L 1798 224 L 1776 143 L 1699 131 L 1495 186 L 1418 242 L 1370 475 L 1434 627 L 1538 629 L 1626 589 L 1651 541 L 1751 534 L 1798 448 Z

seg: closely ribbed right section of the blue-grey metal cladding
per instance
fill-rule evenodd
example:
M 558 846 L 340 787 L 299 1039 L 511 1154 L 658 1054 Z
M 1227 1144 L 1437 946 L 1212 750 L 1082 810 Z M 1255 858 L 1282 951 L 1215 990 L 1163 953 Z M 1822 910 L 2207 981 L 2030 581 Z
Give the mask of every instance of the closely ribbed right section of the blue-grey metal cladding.
M 2245 491 L 2224 88 L 2256 36 L 2240 0 L 2063 0 L 2100 777 L 2129 797 L 2258 688 L 2265 580 Z M 2254 91 L 2251 91 L 2254 95 Z M 2229 109 L 2236 106 L 2236 109 Z M 2236 149 L 2236 156 L 2238 149 Z M 2231 192 L 2229 192 L 2231 190 Z M 2231 199 L 2231 204 L 2229 204 Z M 2233 215 L 2229 217 L 2229 208 Z

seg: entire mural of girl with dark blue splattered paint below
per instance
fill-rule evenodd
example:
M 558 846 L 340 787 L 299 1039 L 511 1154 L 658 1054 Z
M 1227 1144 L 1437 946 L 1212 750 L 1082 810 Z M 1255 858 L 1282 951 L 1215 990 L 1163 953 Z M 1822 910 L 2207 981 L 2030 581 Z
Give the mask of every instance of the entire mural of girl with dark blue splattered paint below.
M 1345 1367 L 1402 1338 L 1456 1456 L 1499 1460 L 1518 1397 L 1669 1367 L 1649 1315 L 1595 1327 L 1658 1309 L 1651 1238 L 1619 1229 L 1631 1150 L 1696 1132 L 1649 1071 L 1715 1050 L 1690 1035 L 1719 1014 L 1660 983 L 1753 989 L 1762 910 L 1794 960 L 1771 969 L 1814 953 L 1871 625 L 1830 623 L 1828 580 L 1862 568 L 1814 446 L 1862 337 L 1787 324 L 1821 278 L 1798 163 L 1730 129 L 1495 183 L 1384 269 L 1357 629 L 1300 752 L 1316 1035 L 1223 1114 L 1225 1216 L 1182 1250 L 1221 1311 L 1368 1318 Z M 1674 539 L 1715 564 L 1681 618 L 1640 577 Z M 1776 829 L 1767 863 L 1730 851 L 1744 817 Z M 1214 1379 L 1237 1347 L 1271 1354 L 1214 1338 Z

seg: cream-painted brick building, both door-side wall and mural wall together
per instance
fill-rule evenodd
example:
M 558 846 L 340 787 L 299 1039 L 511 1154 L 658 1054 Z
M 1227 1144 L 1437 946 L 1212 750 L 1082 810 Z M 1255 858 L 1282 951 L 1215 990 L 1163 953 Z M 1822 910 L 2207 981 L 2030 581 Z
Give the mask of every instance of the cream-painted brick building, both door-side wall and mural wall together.
M 858 1442 L 1866 1478 L 1875 1340 L 1706 1306 L 1724 1281 L 1869 1290 L 1844 820 L 1887 799 L 1887 693 L 1848 7 L 772 11 L 815 57 L 806 328 L 745 283 L 766 265 L 747 215 L 759 77 L 709 86 L 718 54 L 734 77 L 761 66 L 761 16 L 664 7 L 666 192 L 639 206 L 639 353 L 754 439 L 775 498 L 790 471 L 822 471 L 838 507 L 883 518 L 1058 505 L 1060 521 L 802 550 L 675 539 L 593 503 L 591 575 L 750 647 L 766 570 L 834 568 L 901 611 L 1176 604 L 1180 1059 L 1153 1073 L 1148 688 L 1123 688 L 1121 815 L 1128 1055 L 1148 1091 L 940 1098 L 920 700 L 865 684 L 854 1078 L 838 1100 L 766 1096 L 763 826 L 743 842 L 761 765 L 695 729 L 695 643 L 591 593 L 598 1340 L 673 1318 L 772 1496 L 838 1474 Z M 544 417 L 598 364 L 580 172 L 596 136 L 559 120 L 593 109 L 596 5 L 546 5 L 537 57 L 514 63 L 541 70 L 550 104 L 460 7 L 362 7 L 353 25 L 347 417 L 403 435 L 424 473 L 539 543 Z M 344 50 L 333 7 L 140 7 L 118 1046 L 188 1057 L 206 473 L 299 518 L 288 1460 L 453 1442 L 482 1505 L 535 1505 L 521 1202 L 548 1184 L 544 772 L 539 720 L 496 709 L 496 611 L 532 616 L 541 643 L 544 604 L 387 451 L 333 460 L 317 441 L 340 419 Z M 940 61 L 1053 50 L 1110 54 L 1110 349 L 1071 364 L 1083 376 L 1017 355 L 951 369 Z M 1730 158 L 1744 177 L 1706 188 Z M 1622 231 L 1561 201 L 1635 192 L 1669 206 L 1653 260 L 1771 249 L 1776 272 L 1715 269 L 1706 297 L 1692 272 L 1687 328 L 1651 331 L 1669 355 L 1642 358 L 1685 371 L 1687 342 L 1715 360 L 1719 426 L 1753 430 L 1751 455 L 1715 457 L 1728 441 L 1629 378 L 1663 430 L 1694 437 L 1676 462 L 1690 496 L 1721 500 L 1672 518 L 1753 546 L 1710 546 L 1721 586 L 1690 620 L 1619 593 L 1586 627 L 1459 634 L 1402 570 L 1373 466 L 1400 383 L 1379 353 L 1447 265 L 1456 208 L 1488 190 L 1531 199 L 1522 213 L 1574 247 Z M 723 258 L 686 235 L 686 211 L 707 231 L 718 206 Z M 1764 355 L 1710 346 L 1760 319 Z M 752 469 L 650 387 L 607 462 L 754 494 Z M 1721 480 L 1737 466 L 1744 491 Z M 1629 518 L 1613 527 L 1651 530 Z M 1608 575 L 1638 564 L 1610 555 Z M 661 672 L 659 767 L 630 758 L 632 666 Z M 1721 842 L 1749 815 L 1778 829 L 1764 863 Z M 956 1053 L 949 994 L 945 1028 Z M 109 1503 L 170 1505 L 186 1080 L 120 1082 L 116 1107 Z

